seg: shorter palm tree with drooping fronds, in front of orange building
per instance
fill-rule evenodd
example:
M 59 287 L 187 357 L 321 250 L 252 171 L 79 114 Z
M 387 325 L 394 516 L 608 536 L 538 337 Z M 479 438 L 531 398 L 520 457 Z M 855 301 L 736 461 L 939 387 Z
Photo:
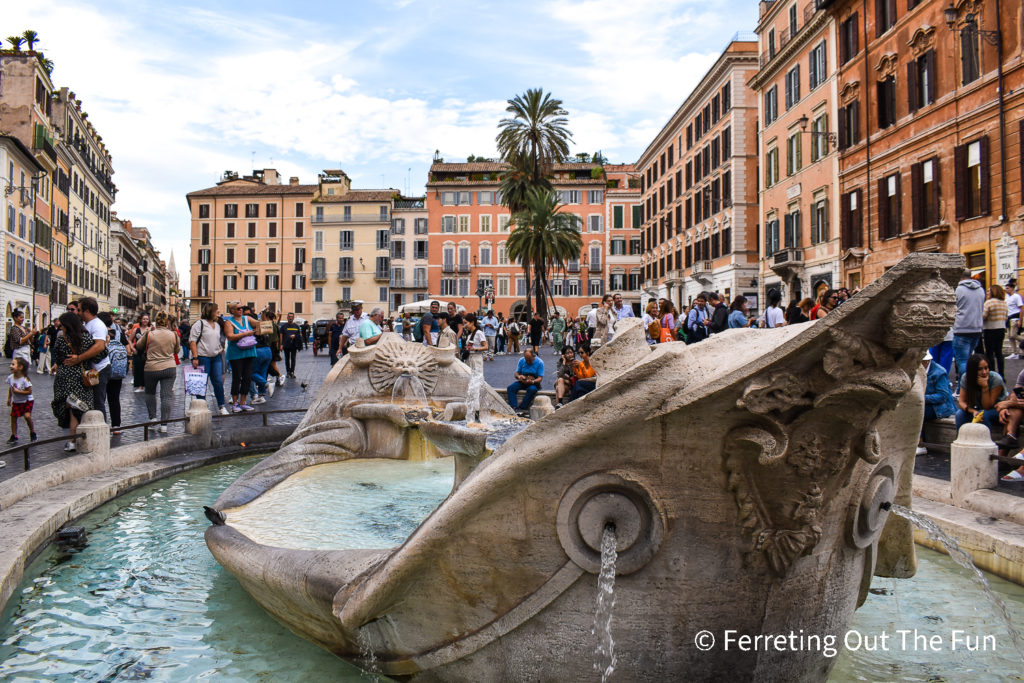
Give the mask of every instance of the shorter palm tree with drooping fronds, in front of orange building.
M 509 234 L 509 258 L 522 263 L 526 278 L 526 308 L 529 309 L 530 270 L 537 290 L 537 311 L 548 314 L 551 288 L 548 274 L 564 267 L 565 262 L 580 257 L 583 238 L 581 219 L 570 213 L 560 213 L 558 194 L 552 189 L 532 188 L 526 195 L 525 208 L 512 216 L 515 227 Z

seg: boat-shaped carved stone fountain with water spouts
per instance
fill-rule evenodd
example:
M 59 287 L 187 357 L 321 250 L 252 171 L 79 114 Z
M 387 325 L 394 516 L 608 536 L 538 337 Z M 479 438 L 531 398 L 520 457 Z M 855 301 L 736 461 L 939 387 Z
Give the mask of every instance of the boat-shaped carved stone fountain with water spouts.
M 573 681 L 595 678 L 611 533 L 616 677 L 823 680 L 835 659 L 820 649 L 735 639 L 842 635 L 872 575 L 913 574 L 889 509 L 910 504 L 921 359 L 952 324 L 962 268 L 913 254 L 823 319 L 691 346 L 650 348 L 626 323 L 595 354 L 595 391 L 493 453 L 483 428 L 453 423 L 469 384 L 454 351 L 384 337 L 336 366 L 282 450 L 217 500 L 207 544 L 274 616 L 360 667 Z M 390 400 L 402 376 L 425 404 Z M 480 411 L 509 413 L 489 389 Z M 458 476 L 397 547 L 285 549 L 232 526 L 304 468 L 431 454 L 457 454 Z

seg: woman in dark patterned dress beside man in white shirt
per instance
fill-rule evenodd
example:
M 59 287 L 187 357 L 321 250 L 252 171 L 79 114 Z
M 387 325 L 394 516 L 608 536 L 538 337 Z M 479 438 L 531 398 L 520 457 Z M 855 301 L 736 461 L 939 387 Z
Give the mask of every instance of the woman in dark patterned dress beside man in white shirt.
M 72 355 L 79 355 L 83 349 L 92 346 L 92 335 L 85 329 L 77 313 L 67 312 L 57 318 L 63 334 L 58 334 L 53 344 L 53 400 L 50 409 L 57 425 L 70 429 L 74 436 L 78 423 L 86 411 L 92 410 L 92 387 L 85 384 L 84 369 L 81 366 L 66 366 L 63 361 Z M 91 366 L 90 366 L 91 369 Z M 95 371 L 91 371 L 95 372 Z M 97 378 L 98 380 L 98 378 Z M 65 443 L 65 451 L 77 451 L 75 440 Z

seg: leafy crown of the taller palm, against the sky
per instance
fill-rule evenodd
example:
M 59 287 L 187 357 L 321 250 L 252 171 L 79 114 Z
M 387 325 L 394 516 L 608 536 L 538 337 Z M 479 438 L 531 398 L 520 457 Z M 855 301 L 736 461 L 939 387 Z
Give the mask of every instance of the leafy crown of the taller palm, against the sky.
M 498 153 L 504 162 L 528 168 L 537 184 L 555 162 L 569 154 L 568 112 L 562 109 L 562 100 L 540 88 L 508 100 L 505 111 L 512 117 L 498 124 Z

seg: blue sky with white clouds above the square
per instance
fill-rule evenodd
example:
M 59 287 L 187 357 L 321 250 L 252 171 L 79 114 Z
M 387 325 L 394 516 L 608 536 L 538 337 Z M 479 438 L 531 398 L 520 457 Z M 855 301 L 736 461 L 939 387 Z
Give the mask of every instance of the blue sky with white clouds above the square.
M 495 157 L 506 100 L 560 98 L 572 153 L 632 163 L 754 0 L 34 0 L 31 29 L 103 137 L 114 210 L 173 251 L 187 287 L 185 195 L 224 171 L 422 194 L 434 153 Z

